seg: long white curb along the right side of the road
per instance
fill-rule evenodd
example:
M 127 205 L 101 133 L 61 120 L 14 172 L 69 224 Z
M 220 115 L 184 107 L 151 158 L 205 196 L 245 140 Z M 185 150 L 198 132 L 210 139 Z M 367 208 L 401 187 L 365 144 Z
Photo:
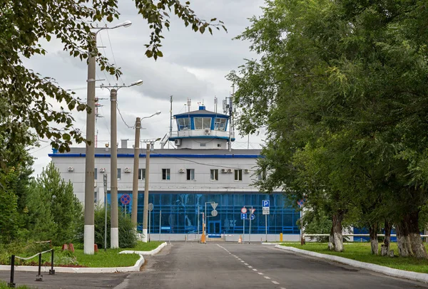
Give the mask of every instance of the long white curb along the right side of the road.
M 302 250 L 302 249 L 298 249 L 298 248 L 294 248 L 294 247 L 286 247 L 286 246 L 276 245 L 275 248 L 285 250 L 285 251 L 292 251 L 295 253 L 301 253 L 301 254 L 316 257 L 316 258 L 322 258 L 322 259 L 326 259 L 326 260 L 330 260 L 330 261 L 335 261 L 338 263 L 354 266 L 357 268 L 372 270 L 374 272 L 382 273 L 382 274 L 389 275 L 392 277 L 405 278 L 405 279 L 409 279 L 409 280 L 428 283 L 428 274 L 427 273 L 417 273 L 417 272 L 411 272 L 411 271 L 406 271 L 406 270 L 399 270 L 399 269 L 389 268 L 389 267 L 385 267 L 385 266 L 380 266 L 377 264 L 355 261 L 355 260 L 351 260 L 351 259 L 343 258 L 343 257 L 339 257 L 339 256 L 333 256 L 333 255 L 327 255 L 327 254 L 322 254 L 322 253 L 316 253 L 316 252 L 312 252 L 312 251 L 306 251 L 306 250 Z

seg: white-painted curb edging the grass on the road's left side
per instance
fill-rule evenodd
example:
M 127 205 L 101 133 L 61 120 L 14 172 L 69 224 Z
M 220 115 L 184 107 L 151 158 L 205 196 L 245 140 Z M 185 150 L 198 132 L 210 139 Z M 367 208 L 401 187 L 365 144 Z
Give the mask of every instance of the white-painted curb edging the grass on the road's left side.
M 143 255 L 154 255 L 159 253 L 167 243 L 162 243 L 158 248 L 152 251 L 121 251 L 123 253 L 136 253 L 140 255 L 140 258 L 134 266 L 130 267 L 106 267 L 106 268 L 75 268 L 75 267 L 54 267 L 55 273 L 125 273 L 125 272 L 138 272 L 145 260 Z M 41 272 L 49 273 L 51 266 L 41 266 Z M 10 265 L 0 265 L 0 271 L 10 271 Z M 38 266 L 15 266 L 15 271 L 27 271 L 27 272 L 38 272 Z

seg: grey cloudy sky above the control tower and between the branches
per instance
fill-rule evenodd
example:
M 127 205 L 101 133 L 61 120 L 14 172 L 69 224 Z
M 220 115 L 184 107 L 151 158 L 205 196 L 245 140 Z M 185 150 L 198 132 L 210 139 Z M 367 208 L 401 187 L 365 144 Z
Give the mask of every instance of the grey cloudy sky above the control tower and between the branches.
M 245 41 L 233 40 L 242 33 L 245 27 L 250 25 L 248 18 L 261 14 L 260 6 L 263 0 L 193 0 L 191 6 L 201 19 L 216 17 L 224 21 L 228 28 L 225 31 L 214 29 L 213 36 L 206 31 L 203 35 L 193 32 L 190 27 L 171 16 L 170 31 L 165 31 L 163 41 L 163 58 L 154 61 L 146 58 L 144 44 L 149 42 L 149 30 L 146 21 L 137 14 L 133 1 L 119 1 L 121 18 L 109 26 L 114 26 L 126 20 L 132 21 L 128 28 L 116 28 L 110 31 L 98 33 L 98 46 L 101 52 L 111 62 L 121 67 L 123 75 L 116 80 L 98 70 L 97 85 L 116 84 L 129 85 L 133 81 L 143 80 L 141 86 L 122 88 L 118 90 L 118 107 L 123 115 L 121 120 L 118 115 L 118 142 L 128 139 L 129 145 L 133 144 L 134 130 L 127 127 L 133 126 L 136 117 L 152 115 L 161 110 L 161 115 L 143 120 L 141 139 L 163 137 L 169 130 L 170 95 L 173 95 L 173 114 L 187 110 L 185 103 L 190 98 L 191 110 L 198 109 L 198 103 L 204 103 L 207 110 L 214 110 L 214 98 L 218 98 L 218 110 L 220 111 L 222 100 L 231 92 L 231 83 L 225 79 L 230 70 L 236 70 L 239 65 L 245 63 L 245 58 L 256 58 L 249 51 L 249 44 Z M 35 70 L 43 76 L 55 78 L 65 89 L 73 90 L 76 95 L 86 98 L 86 63 L 68 56 L 63 52 L 61 43 L 51 41 L 44 43 L 48 54 L 25 60 L 27 67 Z M 98 130 L 98 147 L 110 142 L 110 103 L 109 92 L 106 89 L 96 90 L 100 100 L 98 113 L 103 117 L 98 118 L 96 130 Z M 75 126 L 85 133 L 86 114 L 74 113 Z M 173 128 L 175 130 L 175 127 Z M 260 137 L 250 136 L 239 138 L 233 144 L 233 148 L 258 148 L 262 142 Z M 41 141 L 41 147 L 31 150 L 36 157 L 34 174 L 39 174 L 41 169 L 50 162 L 48 154 L 51 147 L 47 140 Z M 120 144 L 119 144 L 120 145 Z M 79 146 L 83 146 L 80 144 Z

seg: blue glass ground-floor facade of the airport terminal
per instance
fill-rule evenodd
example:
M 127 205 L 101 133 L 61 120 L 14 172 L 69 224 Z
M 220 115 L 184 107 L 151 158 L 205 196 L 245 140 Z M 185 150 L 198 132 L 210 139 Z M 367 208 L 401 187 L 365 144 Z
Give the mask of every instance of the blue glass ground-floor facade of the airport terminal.
M 118 192 L 118 206 L 125 211 L 125 206 L 121 204 L 121 196 L 129 194 L 131 191 Z M 107 195 L 108 204 L 111 202 L 111 195 Z M 213 207 L 206 204 L 207 211 L 207 232 L 208 233 L 243 233 L 250 228 L 250 220 L 241 219 L 241 209 L 246 206 L 247 217 L 251 205 L 255 209 L 255 219 L 251 221 L 251 233 L 265 233 L 265 215 L 262 214 L 262 201 L 270 200 L 270 215 L 267 215 L 267 233 L 270 234 L 298 234 L 299 228 L 297 220 L 300 212 L 287 206 L 287 200 L 282 194 L 197 194 L 197 193 L 166 193 L 150 192 L 148 202 L 153 204 L 153 211 L 150 212 L 151 233 L 196 233 L 198 232 L 198 209 L 199 209 L 199 231 L 202 231 L 202 213 L 205 213 L 205 202 L 214 201 L 218 203 L 215 208 L 217 216 L 211 216 Z M 131 197 L 132 200 L 132 197 Z M 138 228 L 143 224 L 143 204 L 144 194 L 138 194 Z M 131 214 L 131 204 L 126 206 L 126 211 Z M 161 218 L 161 224 L 159 219 Z M 161 225 L 161 226 L 159 226 Z M 140 231 L 140 230 L 138 230 Z

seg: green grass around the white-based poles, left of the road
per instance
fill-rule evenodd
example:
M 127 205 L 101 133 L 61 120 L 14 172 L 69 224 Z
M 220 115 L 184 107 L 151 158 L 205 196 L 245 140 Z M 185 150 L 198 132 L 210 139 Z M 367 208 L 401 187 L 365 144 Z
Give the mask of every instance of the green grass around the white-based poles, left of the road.
M 143 243 L 138 241 L 137 246 L 134 248 L 118 248 L 118 249 L 99 249 L 98 253 L 93 255 L 83 254 L 82 249 L 76 249 L 74 255 L 78 265 L 87 267 L 128 267 L 134 266 L 136 261 L 140 258 L 138 254 L 119 254 L 120 251 L 152 251 L 158 248 L 163 242 L 151 241 L 150 243 Z

